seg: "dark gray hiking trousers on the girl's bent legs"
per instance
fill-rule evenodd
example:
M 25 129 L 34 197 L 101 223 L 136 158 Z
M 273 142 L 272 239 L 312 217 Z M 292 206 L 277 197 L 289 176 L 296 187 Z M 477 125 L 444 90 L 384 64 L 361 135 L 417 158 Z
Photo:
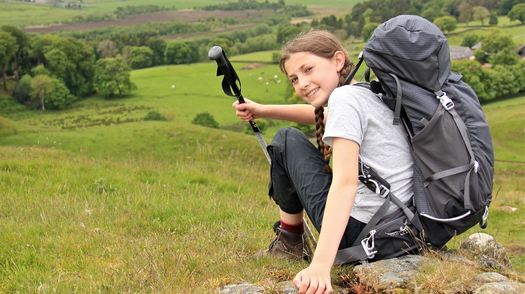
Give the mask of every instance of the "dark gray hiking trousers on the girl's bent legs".
M 286 213 L 297 214 L 304 209 L 319 232 L 332 184 L 332 175 L 324 171 L 321 152 L 301 131 L 286 127 L 277 132 L 268 145 L 268 153 L 270 198 Z M 339 248 L 350 247 L 365 225 L 350 218 Z

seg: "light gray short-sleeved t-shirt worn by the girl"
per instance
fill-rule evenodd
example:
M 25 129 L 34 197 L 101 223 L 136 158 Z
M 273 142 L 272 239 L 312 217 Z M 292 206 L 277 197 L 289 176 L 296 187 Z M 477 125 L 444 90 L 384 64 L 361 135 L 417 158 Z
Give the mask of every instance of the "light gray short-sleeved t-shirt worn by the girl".
M 406 134 L 401 125 L 392 125 L 393 117 L 393 111 L 369 89 L 351 85 L 336 88 L 328 100 L 323 141 L 330 146 L 334 137 L 357 142 L 362 161 L 390 183 L 397 198 L 408 202 L 414 161 Z M 358 182 L 351 216 L 367 223 L 384 201 Z M 388 213 L 396 209 L 391 203 Z

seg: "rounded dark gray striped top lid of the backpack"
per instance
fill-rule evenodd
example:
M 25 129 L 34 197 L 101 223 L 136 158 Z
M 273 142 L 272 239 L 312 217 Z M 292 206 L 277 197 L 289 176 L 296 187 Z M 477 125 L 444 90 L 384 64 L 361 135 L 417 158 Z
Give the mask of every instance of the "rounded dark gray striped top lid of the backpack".
M 363 48 L 372 70 L 393 73 L 433 92 L 450 71 L 450 49 L 443 32 L 416 15 L 400 15 L 378 26 Z

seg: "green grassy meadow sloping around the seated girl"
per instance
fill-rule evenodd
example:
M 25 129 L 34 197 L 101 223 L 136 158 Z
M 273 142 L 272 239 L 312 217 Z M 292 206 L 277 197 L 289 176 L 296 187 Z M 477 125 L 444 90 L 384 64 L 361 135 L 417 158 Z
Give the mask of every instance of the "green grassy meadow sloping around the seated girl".
M 232 62 L 245 97 L 281 104 L 286 82 L 277 65 L 243 69 L 271 53 Z M 267 196 L 269 166 L 253 134 L 227 130 L 246 124 L 215 73 L 214 62 L 136 70 L 132 95 L 94 96 L 62 111 L 28 111 L 1 94 L 0 292 L 203 293 L 244 281 L 271 291 L 295 276 L 304 264 L 253 256 L 272 240 L 278 217 Z M 524 98 L 483 106 L 497 159 L 489 226 L 448 244 L 489 233 L 518 277 Z M 169 120 L 142 120 L 152 110 Z M 202 112 L 220 129 L 192 125 Z M 334 283 L 348 270 L 334 268 Z

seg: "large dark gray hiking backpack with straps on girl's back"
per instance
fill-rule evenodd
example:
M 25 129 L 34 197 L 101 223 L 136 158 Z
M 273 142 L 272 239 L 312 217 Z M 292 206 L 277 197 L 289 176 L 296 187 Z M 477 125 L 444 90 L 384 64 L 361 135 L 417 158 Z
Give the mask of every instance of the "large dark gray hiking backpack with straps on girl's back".
M 411 203 L 401 203 L 390 185 L 365 163 L 360 180 L 385 198 L 352 247 L 334 264 L 374 261 L 442 247 L 453 236 L 487 225 L 494 155 L 487 119 L 476 93 L 450 71 L 448 41 L 432 22 L 401 15 L 378 26 L 346 78 L 362 62 L 372 92 L 394 111 L 414 156 Z M 378 81 L 370 81 L 370 70 Z M 362 83 L 359 83 L 362 84 Z M 384 216 L 390 202 L 400 210 Z

